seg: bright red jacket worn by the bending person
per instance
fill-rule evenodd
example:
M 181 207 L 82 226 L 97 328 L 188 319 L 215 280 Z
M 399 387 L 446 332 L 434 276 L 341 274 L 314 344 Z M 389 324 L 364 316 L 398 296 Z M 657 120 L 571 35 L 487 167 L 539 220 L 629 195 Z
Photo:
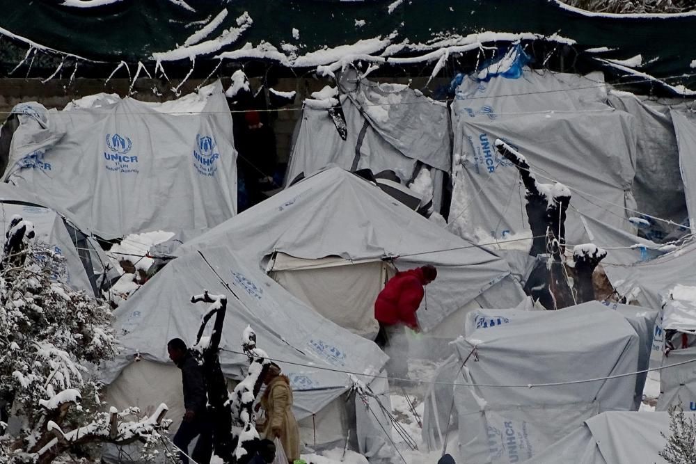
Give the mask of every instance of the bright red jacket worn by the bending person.
M 374 319 L 385 324 L 404 323 L 418 328 L 416 311 L 425 291 L 425 276 L 420 268 L 398 272 L 390 278 L 374 302 Z

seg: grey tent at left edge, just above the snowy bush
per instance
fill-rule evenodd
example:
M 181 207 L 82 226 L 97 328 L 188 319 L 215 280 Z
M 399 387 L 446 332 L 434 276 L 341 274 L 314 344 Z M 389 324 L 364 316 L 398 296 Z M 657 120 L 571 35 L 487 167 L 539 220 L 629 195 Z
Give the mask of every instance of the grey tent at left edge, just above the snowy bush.
M 85 234 L 67 211 L 49 207 L 48 202 L 24 189 L 0 184 L 3 243 L 15 215 L 34 225 L 34 241 L 65 257 L 65 267 L 58 272 L 65 284 L 102 298 L 102 290 L 108 290 L 118 278 L 97 241 Z

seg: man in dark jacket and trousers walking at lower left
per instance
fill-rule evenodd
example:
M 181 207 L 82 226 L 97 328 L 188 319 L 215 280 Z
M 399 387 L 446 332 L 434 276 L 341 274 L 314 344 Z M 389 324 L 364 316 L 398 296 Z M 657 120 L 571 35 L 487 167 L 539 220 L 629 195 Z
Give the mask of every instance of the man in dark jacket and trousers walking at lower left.
M 167 344 L 169 358 L 181 369 L 181 379 L 184 387 L 184 419 L 172 440 L 179 451 L 182 464 L 188 464 L 189 444 L 198 437 L 191 458 L 198 464 L 209 464 L 213 451 L 212 426 L 207 417 L 207 396 L 203 371 L 193 358 L 184 340 L 171 339 Z

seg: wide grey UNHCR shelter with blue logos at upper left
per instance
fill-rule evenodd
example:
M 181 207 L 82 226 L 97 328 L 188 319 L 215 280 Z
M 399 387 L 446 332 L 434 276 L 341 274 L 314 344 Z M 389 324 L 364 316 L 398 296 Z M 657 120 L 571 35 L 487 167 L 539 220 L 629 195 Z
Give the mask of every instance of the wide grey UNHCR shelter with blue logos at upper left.
M 104 239 L 209 228 L 235 215 L 237 153 L 219 82 L 174 102 L 95 95 L 63 111 L 15 106 L 10 182 Z

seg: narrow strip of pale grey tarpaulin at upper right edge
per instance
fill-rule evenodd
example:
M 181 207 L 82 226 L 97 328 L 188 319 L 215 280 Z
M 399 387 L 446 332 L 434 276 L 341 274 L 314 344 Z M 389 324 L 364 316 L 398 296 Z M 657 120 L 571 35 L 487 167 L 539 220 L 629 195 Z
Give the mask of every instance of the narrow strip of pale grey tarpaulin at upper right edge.
M 684 182 L 689 227 L 696 230 L 696 117 L 692 113 L 670 111 L 679 146 L 679 169 Z

